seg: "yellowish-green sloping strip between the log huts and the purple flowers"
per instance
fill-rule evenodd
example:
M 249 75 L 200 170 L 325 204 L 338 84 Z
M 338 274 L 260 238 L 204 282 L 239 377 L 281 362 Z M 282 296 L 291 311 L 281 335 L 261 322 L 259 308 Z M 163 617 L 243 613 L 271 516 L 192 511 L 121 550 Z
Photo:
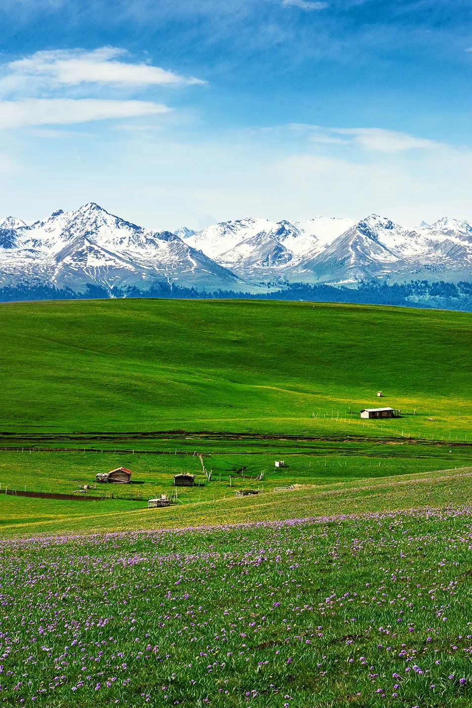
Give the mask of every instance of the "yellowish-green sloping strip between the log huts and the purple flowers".
M 472 505 L 472 467 L 302 486 L 288 492 L 195 499 L 163 509 L 129 501 L 50 501 L 0 494 L 1 535 L 90 534 L 238 524 L 420 507 Z M 187 501 L 187 500 L 186 500 Z

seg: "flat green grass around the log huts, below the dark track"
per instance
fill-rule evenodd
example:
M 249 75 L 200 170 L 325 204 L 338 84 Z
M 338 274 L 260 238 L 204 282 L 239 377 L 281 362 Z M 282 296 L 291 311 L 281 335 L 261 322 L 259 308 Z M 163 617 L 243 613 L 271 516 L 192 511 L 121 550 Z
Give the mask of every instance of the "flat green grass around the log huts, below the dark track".
M 277 486 L 367 480 L 472 464 L 472 450 L 467 445 L 444 447 L 421 442 L 398 445 L 355 440 L 321 442 L 311 450 L 301 442 L 270 441 L 267 445 L 238 442 L 234 447 L 226 443 L 224 452 L 218 452 L 217 445 L 202 446 L 203 463 L 212 473 L 211 481 L 205 476 L 195 450 L 184 449 L 178 455 L 175 450 L 159 455 L 0 450 L 0 492 L 10 488 L 68 494 L 89 484 L 96 487 L 91 489 L 92 495 L 141 494 L 147 498 L 173 493 L 174 475 L 189 472 L 195 475 L 197 486 L 180 489 L 180 498 L 185 502 L 208 501 L 233 495 L 243 487 L 271 491 Z M 283 468 L 275 467 L 275 459 L 279 458 L 284 459 Z M 97 472 L 108 472 L 121 465 L 132 470 L 132 484 L 96 484 Z M 263 478 L 259 479 L 261 474 Z

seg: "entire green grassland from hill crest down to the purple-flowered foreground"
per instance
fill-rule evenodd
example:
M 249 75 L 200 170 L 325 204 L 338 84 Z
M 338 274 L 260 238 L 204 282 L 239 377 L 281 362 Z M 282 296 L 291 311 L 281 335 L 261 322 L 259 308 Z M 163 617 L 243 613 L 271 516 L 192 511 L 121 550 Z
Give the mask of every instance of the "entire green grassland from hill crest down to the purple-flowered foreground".
M 471 705 L 470 315 L 115 300 L 0 328 L 0 707 Z M 359 418 L 379 403 L 401 418 Z M 121 465 L 98 501 L 5 493 Z

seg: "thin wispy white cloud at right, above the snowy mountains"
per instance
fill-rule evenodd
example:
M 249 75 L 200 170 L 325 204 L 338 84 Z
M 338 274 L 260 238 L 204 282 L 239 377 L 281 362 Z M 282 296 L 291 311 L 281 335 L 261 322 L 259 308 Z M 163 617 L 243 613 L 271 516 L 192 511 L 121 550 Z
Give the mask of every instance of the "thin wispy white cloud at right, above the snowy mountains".
M 308 132 L 312 142 L 345 146 L 355 144 L 357 147 L 372 152 L 404 152 L 406 150 L 434 149 L 442 145 L 434 140 L 385 128 L 338 128 L 301 123 L 292 123 L 289 127 L 292 130 Z

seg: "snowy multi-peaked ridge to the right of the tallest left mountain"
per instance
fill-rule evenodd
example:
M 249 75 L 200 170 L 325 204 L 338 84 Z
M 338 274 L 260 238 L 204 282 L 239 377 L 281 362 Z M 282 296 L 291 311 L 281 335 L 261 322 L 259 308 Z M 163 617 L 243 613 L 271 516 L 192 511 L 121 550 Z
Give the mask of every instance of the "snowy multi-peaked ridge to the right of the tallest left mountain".
M 444 217 L 411 229 L 378 215 L 357 223 L 317 217 L 308 222 L 263 222 L 263 229 L 254 233 L 261 224 L 252 220 L 251 231 L 250 221 L 216 224 L 185 240 L 248 279 L 356 282 L 436 278 L 436 273 L 452 280 L 471 279 L 468 222 Z

